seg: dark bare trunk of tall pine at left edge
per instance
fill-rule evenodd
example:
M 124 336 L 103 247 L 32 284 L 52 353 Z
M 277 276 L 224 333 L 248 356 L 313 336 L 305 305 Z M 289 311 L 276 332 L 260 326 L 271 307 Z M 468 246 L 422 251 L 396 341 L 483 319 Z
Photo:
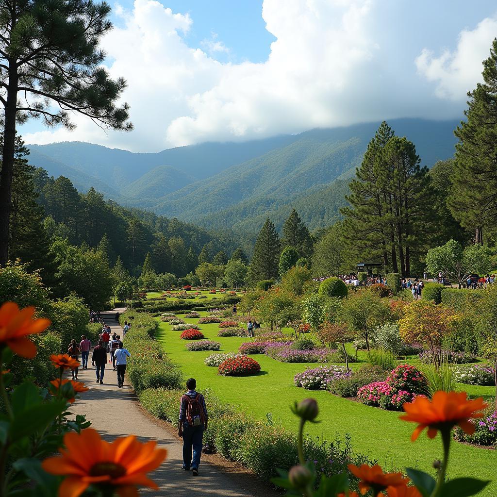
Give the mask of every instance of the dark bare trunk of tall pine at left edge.
M 17 69 L 15 68 L 15 61 L 10 63 L 8 79 L 0 174 L 0 266 L 5 265 L 8 261 L 10 204 L 12 201 L 12 177 L 14 174 L 15 114 L 17 110 Z

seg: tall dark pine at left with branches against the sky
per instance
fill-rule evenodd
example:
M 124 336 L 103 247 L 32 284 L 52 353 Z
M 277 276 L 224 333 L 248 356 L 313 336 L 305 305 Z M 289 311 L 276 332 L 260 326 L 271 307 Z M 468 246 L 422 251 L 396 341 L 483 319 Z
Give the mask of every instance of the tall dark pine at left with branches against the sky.
M 8 260 L 17 123 L 36 117 L 47 126 L 73 129 L 72 111 L 106 128 L 131 130 L 132 124 L 128 105 L 114 104 L 126 82 L 109 77 L 103 66 L 105 53 L 99 48 L 99 40 L 112 27 L 106 2 L 0 0 L 0 11 L 4 126 L 0 265 L 4 265 Z

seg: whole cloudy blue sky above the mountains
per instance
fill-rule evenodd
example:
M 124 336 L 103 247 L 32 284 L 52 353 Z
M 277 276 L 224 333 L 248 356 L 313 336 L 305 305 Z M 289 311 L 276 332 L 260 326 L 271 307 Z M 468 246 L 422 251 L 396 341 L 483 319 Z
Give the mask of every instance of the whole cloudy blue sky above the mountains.
M 462 118 L 495 1 L 121 0 L 101 41 L 134 131 L 19 127 L 26 143 L 134 152 L 398 117 Z

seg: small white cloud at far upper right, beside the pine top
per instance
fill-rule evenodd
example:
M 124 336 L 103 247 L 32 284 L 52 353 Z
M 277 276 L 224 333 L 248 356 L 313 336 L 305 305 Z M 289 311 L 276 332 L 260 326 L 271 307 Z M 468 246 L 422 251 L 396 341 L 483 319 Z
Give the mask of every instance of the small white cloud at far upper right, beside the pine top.
M 444 50 L 436 57 L 424 48 L 416 58 L 417 70 L 428 81 L 435 82 L 440 98 L 465 100 L 466 93 L 482 81 L 482 61 L 489 57 L 491 41 L 497 34 L 497 18 L 483 19 L 473 30 L 459 33 L 456 49 Z

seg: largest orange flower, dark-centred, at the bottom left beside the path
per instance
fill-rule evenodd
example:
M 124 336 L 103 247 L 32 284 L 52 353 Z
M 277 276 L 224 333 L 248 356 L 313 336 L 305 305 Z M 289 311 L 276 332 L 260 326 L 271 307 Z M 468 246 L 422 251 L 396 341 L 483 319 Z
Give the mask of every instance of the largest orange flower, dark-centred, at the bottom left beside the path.
M 67 478 L 59 488 L 59 497 L 79 497 L 90 486 L 114 487 L 126 497 L 138 496 L 137 487 L 157 490 L 146 474 L 158 468 L 166 458 L 166 449 L 156 449 L 156 442 L 139 442 L 134 435 L 116 438 L 112 443 L 100 438 L 96 430 L 64 435 L 66 449 L 61 456 L 49 457 L 43 469 Z

